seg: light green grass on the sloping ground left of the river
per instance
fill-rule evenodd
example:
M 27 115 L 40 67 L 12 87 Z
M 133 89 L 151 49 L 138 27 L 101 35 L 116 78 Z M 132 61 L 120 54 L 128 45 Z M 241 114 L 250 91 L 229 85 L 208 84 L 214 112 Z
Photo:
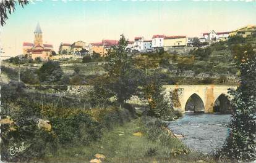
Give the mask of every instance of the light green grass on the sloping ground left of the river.
M 87 147 L 61 149 L 58 151 L 58 156 L 48 157 L 47 160 L 49 162 L 89 162 L 96 153 L 100 153 L 106 156 L 103 162 L 198 162 L 199 160 L 215 162 L 198 153 L 173 157 L 171 156 L 172 148 L 181 146 L 184 148 L 181 141 L 173 138 L 171 145 L 167 145 L 169 143 L 164 145 L 160 140 L 148 140 L 144 133 L 142 137 L 132 135 L 132 133 L 142 131 L 143 127 L 145 126 L 140 119 L 134 119 L 111 131 L 105 131 L 98 143 Z M 155 156 L 145 157 L 149 148 L 158 149 Z

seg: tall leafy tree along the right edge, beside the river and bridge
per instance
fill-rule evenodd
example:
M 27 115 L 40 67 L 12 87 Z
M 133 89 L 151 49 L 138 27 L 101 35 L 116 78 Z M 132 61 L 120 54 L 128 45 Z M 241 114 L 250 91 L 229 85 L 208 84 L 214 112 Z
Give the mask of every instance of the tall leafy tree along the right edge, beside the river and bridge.
M 240 85 L 229 90 L 233 114 L 229 122 L 229 137 L 218 153 L 218 157 L 234 161 L 256 159 L 256 54 L 249 53 L 251 46 L 242 46 L 243 62 L 236 60 L 240 71 Z M 249 49 L 247 49 L 249 48 Z

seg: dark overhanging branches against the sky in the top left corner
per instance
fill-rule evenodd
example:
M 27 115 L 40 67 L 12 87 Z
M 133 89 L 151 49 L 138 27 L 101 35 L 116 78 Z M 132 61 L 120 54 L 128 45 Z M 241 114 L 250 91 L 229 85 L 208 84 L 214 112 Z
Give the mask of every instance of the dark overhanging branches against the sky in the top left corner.
M 9 1 L 1 1 L 0 4 L 0 23 L 1 26 L 6 24 L 6 20 L 8 18 L 7 14 L 12 14 L 15 10 L 15 5 L 19 2 L 20 6 L 24 6 L 28 4 L 28 0 L 9 0 Z

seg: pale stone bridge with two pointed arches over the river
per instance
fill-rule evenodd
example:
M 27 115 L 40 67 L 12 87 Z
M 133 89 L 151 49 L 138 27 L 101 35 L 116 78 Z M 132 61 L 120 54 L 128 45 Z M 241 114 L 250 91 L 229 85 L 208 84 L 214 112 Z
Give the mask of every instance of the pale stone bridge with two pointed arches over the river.
M 164 85 L 166 98 L 172 99 L 174 109 L 182 113 L 226 113 L 231 110 L 228 89 L 235 85 Z

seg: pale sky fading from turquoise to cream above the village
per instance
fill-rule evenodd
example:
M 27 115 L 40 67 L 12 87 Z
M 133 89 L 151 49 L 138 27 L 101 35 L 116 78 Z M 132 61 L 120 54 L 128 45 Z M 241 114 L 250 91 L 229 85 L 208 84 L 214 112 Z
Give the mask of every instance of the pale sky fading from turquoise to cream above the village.
M 100 42 L 135 36 L 202 36 L 256 24 L 256 1 L 34 1 L 17 6 L 0 30 L 8 56 L 22 54 L 22 43 L 33 42 L 37 23 L 43 42 L 58 52 L 61 42 Z

